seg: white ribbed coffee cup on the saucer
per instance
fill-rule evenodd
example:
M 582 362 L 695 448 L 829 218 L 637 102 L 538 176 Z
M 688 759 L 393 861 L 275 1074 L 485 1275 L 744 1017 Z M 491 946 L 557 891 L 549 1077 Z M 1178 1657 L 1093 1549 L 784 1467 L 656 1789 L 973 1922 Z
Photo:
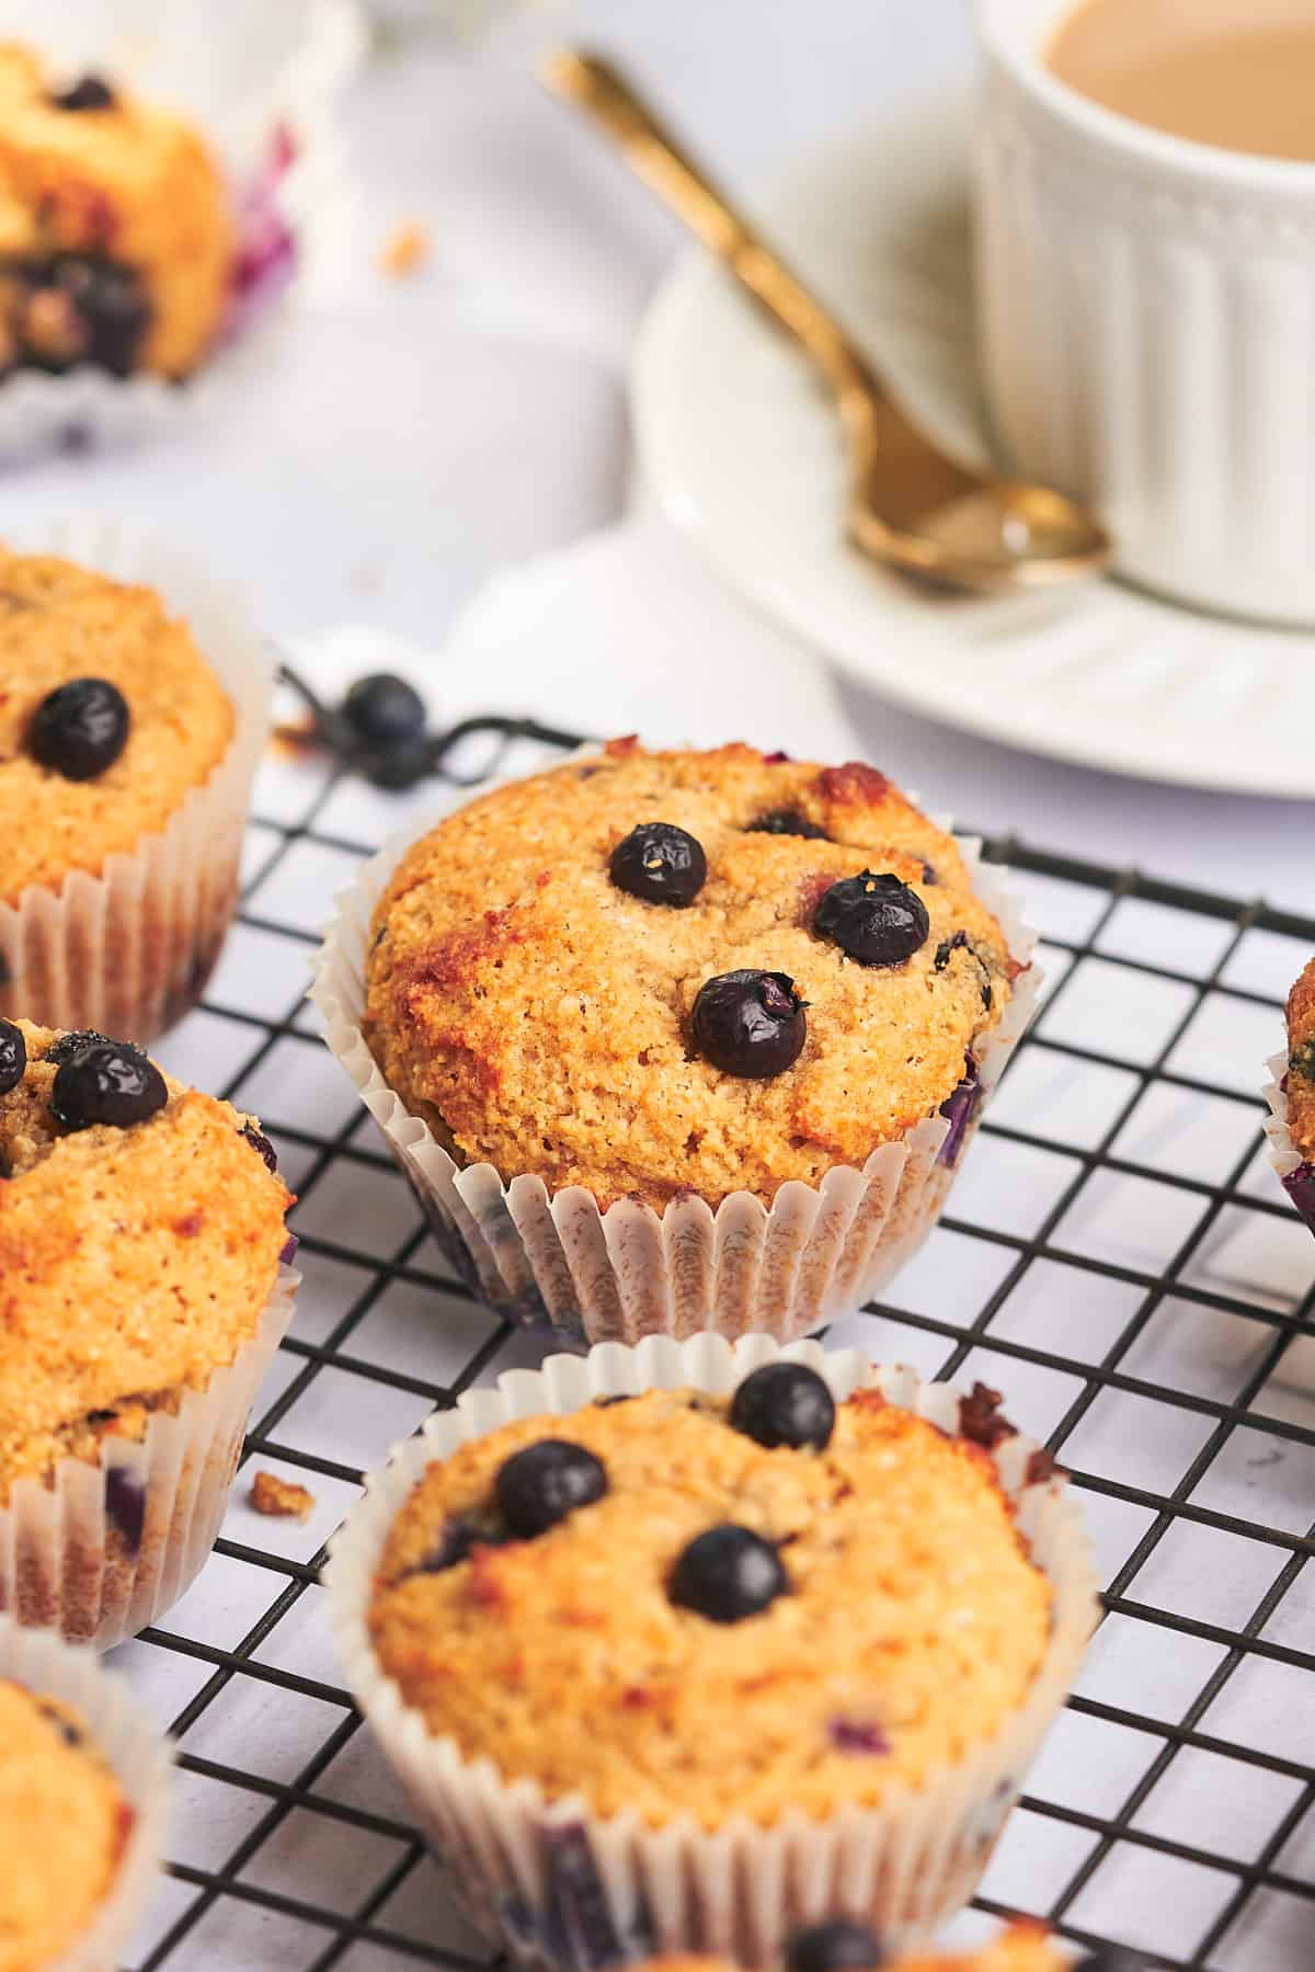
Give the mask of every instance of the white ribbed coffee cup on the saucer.
M 1045 67 L 1073 0 L 978 0 L 976 294 L 1011 465 L 1118 568 L 1315 623 L 1315 164 L 1149 130 Z

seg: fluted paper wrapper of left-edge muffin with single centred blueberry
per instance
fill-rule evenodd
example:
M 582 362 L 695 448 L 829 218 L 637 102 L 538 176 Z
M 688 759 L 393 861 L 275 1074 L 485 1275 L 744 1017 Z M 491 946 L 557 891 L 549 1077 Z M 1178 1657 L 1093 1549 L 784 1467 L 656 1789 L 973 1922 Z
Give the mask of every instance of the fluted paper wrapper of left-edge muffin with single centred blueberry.
M 101 876 L 71 870 L 59 887 L 30 883 L 16 903 L 0 903 L 0 1012 L 150 1041 L 201 998 L 237 909 L 274 655 L 225 584 L 130 527 L 73 519 L 4 538 L 156 590 L 172 615 L 187 619 L 233 704 L 223 759 L 162 830 L 106 858 Z

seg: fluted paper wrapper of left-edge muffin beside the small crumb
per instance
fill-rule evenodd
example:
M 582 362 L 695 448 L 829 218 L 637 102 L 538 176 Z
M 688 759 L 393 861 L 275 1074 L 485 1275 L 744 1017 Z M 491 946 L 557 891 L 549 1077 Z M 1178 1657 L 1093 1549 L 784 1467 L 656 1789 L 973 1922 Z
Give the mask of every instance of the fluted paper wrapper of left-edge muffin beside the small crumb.
M 110 1651 L 160 1617 L 205 1566 L 229 1505 L 260 1378 L 292 1321 L 300 1274 L 280 1266 L 233 1363 L 140 1442 L 104 1438 L 101 1459 L 61 1459 L 18 1479 L 0 1507 L 0 1611 Z

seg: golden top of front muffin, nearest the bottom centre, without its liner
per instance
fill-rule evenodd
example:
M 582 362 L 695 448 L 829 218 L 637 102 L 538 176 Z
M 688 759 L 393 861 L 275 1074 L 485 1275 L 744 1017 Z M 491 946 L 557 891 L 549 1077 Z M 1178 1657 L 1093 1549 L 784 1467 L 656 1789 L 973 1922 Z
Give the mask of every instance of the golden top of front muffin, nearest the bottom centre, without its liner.
M 741 1386 L 743 1388 L 743 1386 Z M 726 1400 L 655 1390 L 503 1426 L 428 1467 L 369 1629 L 430 1731 L 597 1814 L 718 1826 L 875 1804 L 990 1739 L 1043 1660 L 1051 1587 L 994 1461 L 864 1390 L 824 1449 L 767 1447 Z M 505 1461 L 586 1447 L 605 1491 L 511 1538 Z M 755 1613 L 682 1595 L 731 1524 L 785 1585 Z

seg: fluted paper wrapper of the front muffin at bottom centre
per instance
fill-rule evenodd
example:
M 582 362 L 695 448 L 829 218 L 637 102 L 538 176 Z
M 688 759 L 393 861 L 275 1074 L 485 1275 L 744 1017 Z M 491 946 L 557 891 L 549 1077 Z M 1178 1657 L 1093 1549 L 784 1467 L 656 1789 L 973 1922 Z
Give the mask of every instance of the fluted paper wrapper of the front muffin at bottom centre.
M 367 1625 L 388 1528 L 424 1467 L 513 1418 L 566 1414 L 599 1396 L 686 1386 L 724 1396 L 781 1355 L 812 1365 L 836 1398 L 875 1386 L 889 1402 L 958 1430 L 960 1392 L 950 1384 L 877 1367 L 856 1349 L 783 1349 L 765 1335 L 735 1345 L 714 1335 L 649 1337 L 635 1349 L 605 1343 L 588 1357 L 550 1357 L 542 1373 L 511 1371 L 495 1390 L 471 1390 L 455 1410 L 432 1416 L 367 1479 L 333 1540 L 325 1584 L 347 1684 L 453 1893 L 491 1940 L 554 1972 L 595 1972 L 658 1950 L 769 1964 L 796 1925 L 824 1915 L 862 1919 L 891 1946 L 921 1942 L 972 1895 L 1096 1623 L 1096 1578 L 1076 1503 L 1059 1473 L 1029 1483 L 1037 1444 L 1019 1434 L 994 1459 L 1055 1591 L 1051 1641 L 1007 1726 L 921 1787 L 895 1787 L 875 1808 L 846 1804 L 828 1818 L 793 1812 L 759 1826 L 737 1816 L 706 1830 L 680 1816 L 653 1828 L 637 1812 L 599 1816 L 584 1795 L 548 1800 L 532 1779 L 507 1777 L 491 1759 L 467 1759 L 453 1739 L 434 1735 L 381 1670 Z

